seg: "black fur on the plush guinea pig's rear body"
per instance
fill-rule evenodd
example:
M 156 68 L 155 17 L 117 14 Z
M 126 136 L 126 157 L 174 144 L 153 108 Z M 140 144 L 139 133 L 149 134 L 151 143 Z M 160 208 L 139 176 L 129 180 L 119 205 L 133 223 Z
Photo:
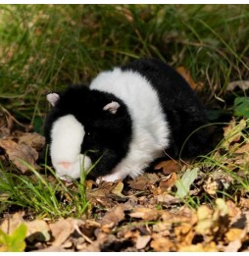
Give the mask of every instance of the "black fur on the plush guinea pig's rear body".
M 207 128 L 194 132 L 181 148 L 192 131 L 207 124 L 203 105 L 183 77 L 156 59 L 140 59 L 125 65 L 122 70 L 135 71 L 146 77 L 158 92 L 172 131 L 171 146 L 166 148 L 171 157 L 192 158 L 208 151 Z

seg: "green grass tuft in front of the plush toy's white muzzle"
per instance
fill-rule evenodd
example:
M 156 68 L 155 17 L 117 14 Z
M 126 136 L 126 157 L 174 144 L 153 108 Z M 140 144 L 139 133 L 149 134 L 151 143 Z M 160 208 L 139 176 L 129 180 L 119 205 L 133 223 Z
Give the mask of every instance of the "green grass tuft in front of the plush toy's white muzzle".
M 50 173 L 40 175 L 31 166 L 28 166 L 31 173 L 29 176 L 20 176 L 12 173 L 3 172 L 0 181 L 0 194 L 4 211 L 10 206 L 26 209 L 32 215 L 43 218 L 80 218 L 86 213 L 88 201 L 85 192 L 84 179 L 86 175 L 82 172 L 80 181 L 74 181 L 70 188 L 58 179 L 53 170 L 46 167 Z

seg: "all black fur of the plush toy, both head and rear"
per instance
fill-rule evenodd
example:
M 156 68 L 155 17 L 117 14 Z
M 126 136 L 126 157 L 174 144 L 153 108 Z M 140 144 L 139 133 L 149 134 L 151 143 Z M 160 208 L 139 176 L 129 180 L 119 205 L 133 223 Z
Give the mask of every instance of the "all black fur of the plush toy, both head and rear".
M 165 119 L 171 128 L 171 144 L 166 152 L 178 158 L 188 135 L 207 124 L 204 108 L 195 92 L 174 69 L 158 60 L 140 59 L 121 69 L 146 77 L 158 92 Z M 103 111 L 103 107 L 112 101 L 121 105 L 115 115 Z M 68 114 L 74 115 L 85 128 L 81 153 L 87 152 L 92 163 L 102 156 L 91 175 L 100 177 L 110 174 L 125 158 L 132 139 L 132 121 L 125 103 L 113 94 L 90 90 L 85 85 L 70 86 L 60 94 L 60 100 L 46 117 L 44 133 L 48 144 L 51 142 L 53 123 Z M 207 149 L 207 139 L 207 129 L 197 130 L 185 143 L 180 157 L 203 153 Z

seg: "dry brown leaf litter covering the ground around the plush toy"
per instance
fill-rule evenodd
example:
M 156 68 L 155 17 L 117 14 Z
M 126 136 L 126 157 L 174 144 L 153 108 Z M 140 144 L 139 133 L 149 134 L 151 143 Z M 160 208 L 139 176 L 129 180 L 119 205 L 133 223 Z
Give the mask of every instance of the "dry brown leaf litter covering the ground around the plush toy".
M 28 219 L 27 210 L 6 210 L 1 232 L 11 235 L 25 225 L 25 251 L 248 251 L 248 190 L 236 189 L 235 177 L 248 180 L 245 128 L 245 121 L 237 126 L 234 119 L 224 128 L 212 158 L 220 168 L 167 160 L 136 179 L 99 184 L 87 179 L 89 207 L 80 219 Z M 5 172 L 14 167 L 27 175 L 23 161 L 39 170 L 41 135 L 6 127 L 0 134 Z M 0 240 L 0 251 L 8 250 L 4 246 Z

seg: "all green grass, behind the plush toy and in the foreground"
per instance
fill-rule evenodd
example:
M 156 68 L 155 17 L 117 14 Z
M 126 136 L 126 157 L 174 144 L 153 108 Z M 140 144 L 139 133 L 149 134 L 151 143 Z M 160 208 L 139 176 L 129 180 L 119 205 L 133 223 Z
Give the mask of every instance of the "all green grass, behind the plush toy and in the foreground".
M 248 19 L 247 5 L 0 5 L 1 105 L 41 132 L 47 92 L 149 56 L 189 70 L 203 101 L 225 111 L 226 85 L 249 76 Z M 248 180 L 214 155 L 200 165 L 223 169 L 248 190 Z M 85 212 L 83 180 L 75 191 L 32 168 L 35 180 L 4 169 L 6 203 L 44 216 Z

